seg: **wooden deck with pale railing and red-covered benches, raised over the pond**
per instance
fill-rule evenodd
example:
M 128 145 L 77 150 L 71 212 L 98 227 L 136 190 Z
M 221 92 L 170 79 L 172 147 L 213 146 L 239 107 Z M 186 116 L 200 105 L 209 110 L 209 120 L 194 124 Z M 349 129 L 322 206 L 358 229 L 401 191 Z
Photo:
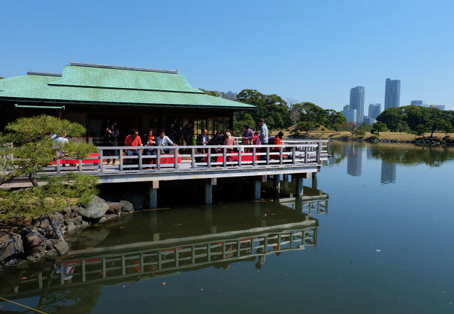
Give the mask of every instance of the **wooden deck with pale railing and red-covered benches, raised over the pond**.
M 83 160 L 61 158 L 47 165 L 39 175 L 45 177 L 79 172 L 91 174 L 100 184 L 138 181 L 259 177 L 274 174 L 310 174 L 320 171 L 329 156 L 328 140 L 286 141 L 277 145 L 185 146 L 185 147 L 98 147 L 98 156 Z M 229 149 L 236 152 L 229 153 Z M 137 149 L 137 150 L 136 150 Z M 168 150 L 164 152 L 163 149 Z M 203 149 L 203 151 L 200 151 Z M 217 151 L 214 151 L 216 149 Z M 135 150 L 137 156 L 126 156 Z M 152 151 L 152 156 L 147 156 Z M 238 151 L 241 153 L 239 154 Z M 110 156 L 115 155 L 115 156 Z M 114 165 L 103 160 L 116 159 Z M 176 162 L 175 162 L 176 160 Z M 30 186 L 28 178 L 15 178 L 2 188 Z

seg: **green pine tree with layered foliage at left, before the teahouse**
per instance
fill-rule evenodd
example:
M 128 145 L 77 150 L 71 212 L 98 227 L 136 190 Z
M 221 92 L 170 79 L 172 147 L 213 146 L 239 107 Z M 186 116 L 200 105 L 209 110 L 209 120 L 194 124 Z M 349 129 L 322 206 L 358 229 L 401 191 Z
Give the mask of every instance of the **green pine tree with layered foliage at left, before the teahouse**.
M 80 124 L 41 115 L 17 119 L 9 123 L 5 130 L 6 134 L 0 136 L 0 155 L 13 155 L 14 158 L 8 158 L 0 177 L 0 186 L 14 177 L 28 177 L 32 187 L 1 190 L 0 218 L 50 214 L 71 202 L 86 203 L 97 193 L 94 188 L 96 178 L 82 174 L 46 177 L 47 184 L 38 184 L 38 172 L 57 160 L 59 154 L 81 159 L 98 151 L 93 145 L 83 142 L 54 146 L 52 134 L 80 136 L 85 133 L 85 128 Z M 12 142 L 15 147 L 6 148 L 8 142 Z M 59 234 L 57 230 L 56 233 Z

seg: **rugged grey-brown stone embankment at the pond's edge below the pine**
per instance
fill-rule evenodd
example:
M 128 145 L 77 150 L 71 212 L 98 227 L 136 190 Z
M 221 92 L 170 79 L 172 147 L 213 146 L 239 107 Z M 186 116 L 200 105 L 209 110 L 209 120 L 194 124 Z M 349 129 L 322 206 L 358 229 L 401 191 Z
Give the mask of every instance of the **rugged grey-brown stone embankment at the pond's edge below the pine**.
M 71 205 L 52 214 L 52 218 L 59 230 L 68 234 L 89 225 L 105 223 L 129 211 L 133 211 L 133 204 L 128 201 L 106 202 L 95 196 L 86 207 Z M 35 261 L 66 254 L 68 244 L 57 236 L 55 229 L 48 216 L 0 229 L 0 269 L 25 260 Z

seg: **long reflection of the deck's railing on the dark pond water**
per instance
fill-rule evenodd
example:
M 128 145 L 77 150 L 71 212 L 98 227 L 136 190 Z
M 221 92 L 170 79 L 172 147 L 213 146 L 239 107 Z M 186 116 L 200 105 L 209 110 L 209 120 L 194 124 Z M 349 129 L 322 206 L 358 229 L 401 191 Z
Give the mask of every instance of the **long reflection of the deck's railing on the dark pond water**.
M 25 297 L 41 292 L 43 287 L 52 289 L 61 285 L 123 282 L 130 276 L 135 276 L 137 281 L 210 266 L 227 267 L 232 262 L 255 260 L 256 257 L 258 264 L 262 264 L 266 255 L 316 246 L 317 227 L 316 220 L 305 220 L 302 223 L 193 237 L 201 239 L 199 241 L 170 239 L 156 241 L 152 246 L 143 244 L 143 248 L 139 248 L 141 244 L 134 244 L 138 248 L 126 252 L 124 247 L 131 245 L 93 248 L 89 256 L 87 252 L 90 250 L 73 251 L 70 254 L 76 257 L 47 265 L 45 271 L 34 278 L 22 278 L 20 287 L 13 288 L 14 293 L 2 296 Z

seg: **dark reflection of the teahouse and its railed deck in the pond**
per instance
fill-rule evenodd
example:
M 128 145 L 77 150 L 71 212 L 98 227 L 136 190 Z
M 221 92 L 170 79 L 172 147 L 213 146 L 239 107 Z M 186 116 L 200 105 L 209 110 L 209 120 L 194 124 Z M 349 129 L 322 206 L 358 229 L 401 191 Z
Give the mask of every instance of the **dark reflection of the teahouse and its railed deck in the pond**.
M 268 255 L 316 246 L 318 219 L 304 209 L 318 208 L 314 214 L 328 211 L 328 195 L 318 190 L 317 195 L 310 195 L 307 188 L 305 192 L 308 195 L 298 197 L 301 204 L 296 210 L 270 202 L 228 208 L 224 204 L 207 205 L 187 212 L 138 211 L 131 215 L 134 219 L 121 225 L 83 230 L 87 234 L 79 234 L 78 239 L 90 239 L 85 245 L 89 247 L 74 244 L 81 249 L 71 251 L 66 259 L 36 264 L 11 273 L 11 278 L 0 276 L 8 283 L 0 287 L 1 296 L 15 300 L 38 297 L 39 303 L 34 306 L 48 313 L 82 306 L 86 308 L 81 312 L 88 313 L 106 285 L 147 281 L 205 267 L 228 269 L 230 264 L 242 261 L 251 262 L 253 269 L 260 268 Z M 131 231 L 115 235 L 120 229 Z M 93 303 L 85 302 L 90 296 Z

